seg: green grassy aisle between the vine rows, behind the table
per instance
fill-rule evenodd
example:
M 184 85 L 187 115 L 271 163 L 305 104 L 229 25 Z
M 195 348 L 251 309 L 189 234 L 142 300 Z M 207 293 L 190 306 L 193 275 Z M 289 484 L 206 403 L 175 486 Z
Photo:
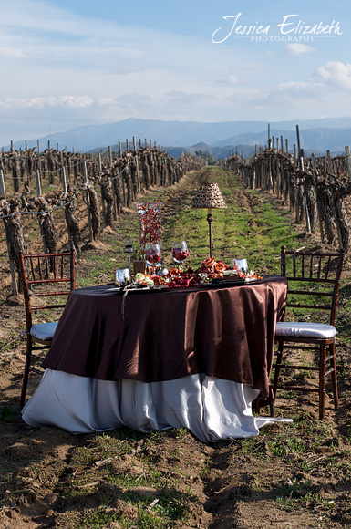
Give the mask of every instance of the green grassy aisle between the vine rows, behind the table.
M 227 204 L 227 209 L 212 210 L 214 258 L 231 265 L 234 257 L 246 257 L 249 266 L 259 273 L 278 274 L 280 246 L 301 245 L 301 226 L 294 225 L 289 212 L 276 210 L 269 202 L 271 195 L 245 190 L 232 172 L 218 167 L 192 172 L 172 188 L 152 190 L 139 197 L 139 202 L 162 202 L 162 264 L 166 267 L 172 265 L 170 249 L 173 240 L 187 241 L 190 249 L 188 266 L 196 268 L 209 256 L 207 210 L 191 208 L 202 182 L 218 183 Z M 116 267 L 122 267 L 126 265 L 126 256 L 121 251 L 124 238 L 133 239 L 138 257 L 136 208 L 135 212 L 131 210 L 120 218 L 116 232 L 117 235 L 106 234 L 102 240 L 113 248 Z M 94 274 L 98 275 L 97 268 Z

